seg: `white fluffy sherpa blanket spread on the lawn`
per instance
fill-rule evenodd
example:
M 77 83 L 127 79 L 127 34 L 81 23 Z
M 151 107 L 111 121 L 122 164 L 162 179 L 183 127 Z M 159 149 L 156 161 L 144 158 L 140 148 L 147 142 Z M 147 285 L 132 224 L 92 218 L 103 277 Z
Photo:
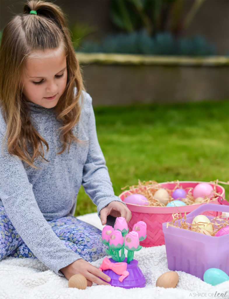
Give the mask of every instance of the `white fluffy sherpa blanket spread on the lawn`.
M 102 229 L 97 213 L 79 216 Z M 186 298 L 228 298 L 229 282 L 211 286 L 201 279 L 177 271 L 179 281 L 176 288 L 156 287 L 157 278 L 170 271 L 167 267 L 165 245 L 142 248 L 135 252 L 139 267 L 145 275 L 145 288 L 123 289 L 113 286 L 93 284 L 85 290 L 68 288 L 68 280 L 48 269 L 37 259 L 5 258 L 0 262 L 0 298 L 1 299 L 186 299 Z M 102 259 L 93 262 L 99 267 Z

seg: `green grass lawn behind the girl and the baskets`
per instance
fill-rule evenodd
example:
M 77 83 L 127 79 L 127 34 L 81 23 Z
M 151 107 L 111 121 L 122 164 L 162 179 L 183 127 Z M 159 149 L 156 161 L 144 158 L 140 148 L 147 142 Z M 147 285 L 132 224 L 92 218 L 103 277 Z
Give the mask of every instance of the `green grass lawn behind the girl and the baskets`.
M 229 181 L 229 102 L 96 107 L 115 194 L 141 181 Z M 223 185 L 226 199 L 229 186 Z M 96 212 L 81 187 L 75 216 Z

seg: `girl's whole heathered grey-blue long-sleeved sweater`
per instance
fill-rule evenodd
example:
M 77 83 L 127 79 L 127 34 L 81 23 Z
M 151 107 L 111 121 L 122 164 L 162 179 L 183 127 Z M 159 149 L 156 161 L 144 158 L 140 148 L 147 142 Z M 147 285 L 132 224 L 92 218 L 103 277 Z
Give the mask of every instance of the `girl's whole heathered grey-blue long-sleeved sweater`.
M 96 135 L 95 117 L 90 95 L 83 91 L 84 105 L 75 135 L 86 142 L 72 142 L 61 154 L 58 147 L 62 124 L 56 120 L 54 108 L 46 109 L 29 103 L 33 126 L 49 145 L 44 145 L 44 157 L 49 162 L 35 161 L 40 169 L 27 167 L 10 155 L 4 146 L 0 153 L 0 205 L 4 205 L 16 231 L 23 241 L 46 266 L 60 276 L 59 270 L 80 258 L 53 232 L 47 220 L 73 215 L 76 196 L 81 184 L 100 210 L 111 201 L 121 201 L 114 195 L 104 156 Z M 0 149 L 6 123 L 0 113 Z

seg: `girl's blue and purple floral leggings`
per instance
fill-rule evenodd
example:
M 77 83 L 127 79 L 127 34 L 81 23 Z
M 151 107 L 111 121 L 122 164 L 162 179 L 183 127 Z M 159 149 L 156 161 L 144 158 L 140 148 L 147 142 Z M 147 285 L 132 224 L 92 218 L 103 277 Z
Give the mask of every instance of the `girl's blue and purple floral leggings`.
M 102 232 L 99 228 L 74 216 L 47 222 L 64 245 L 77 252 L 84 260 L 92 262 L 107 255 L 101 242 Z M 4 206 L 0 205 L 0 260 L 7 256 L 36 258 L 13 227 Z

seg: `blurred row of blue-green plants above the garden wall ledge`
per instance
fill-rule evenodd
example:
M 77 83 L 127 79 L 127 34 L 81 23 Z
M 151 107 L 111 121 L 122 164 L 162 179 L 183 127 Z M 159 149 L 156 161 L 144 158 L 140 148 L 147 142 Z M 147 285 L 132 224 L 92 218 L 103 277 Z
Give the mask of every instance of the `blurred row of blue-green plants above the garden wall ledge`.
M 102 42 L 82 42 L 76 51 L 87 53 L 122 53 L 145 55 L 191 55 L 205 56 L 216 54 L 215 47 L 204 37 L 190 39 L 175 38 L 168 32 L 158 33 L 154 37 L 145 29 L 132 33 L 109 34 Z

